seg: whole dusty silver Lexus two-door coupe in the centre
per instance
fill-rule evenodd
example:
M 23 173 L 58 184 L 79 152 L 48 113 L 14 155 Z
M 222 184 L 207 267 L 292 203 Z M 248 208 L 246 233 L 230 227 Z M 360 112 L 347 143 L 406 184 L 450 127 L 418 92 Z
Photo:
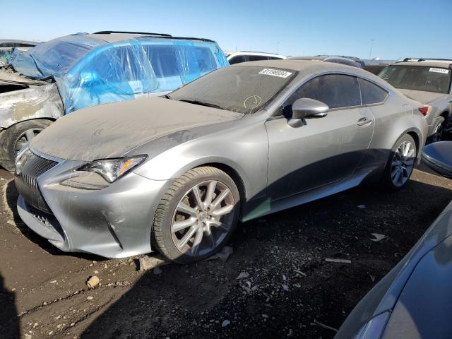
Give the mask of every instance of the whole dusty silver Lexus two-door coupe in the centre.
M 238 220 L 364 181 L 404 186 L 427 135 L 420 108 L 351 66 L 228 66 L 59 119 L 17 157 L 18 212 L 63 251 L 197 261 Z

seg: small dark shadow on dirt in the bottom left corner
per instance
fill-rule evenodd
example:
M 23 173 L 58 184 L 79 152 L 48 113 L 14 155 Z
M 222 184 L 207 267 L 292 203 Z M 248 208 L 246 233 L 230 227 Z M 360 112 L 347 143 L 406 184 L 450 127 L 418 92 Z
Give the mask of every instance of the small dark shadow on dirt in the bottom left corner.
M 16 297 L 4 285 L 0 274 L 0 336 L 1 338 L 20 338 L 19 318 L 16 309 Z

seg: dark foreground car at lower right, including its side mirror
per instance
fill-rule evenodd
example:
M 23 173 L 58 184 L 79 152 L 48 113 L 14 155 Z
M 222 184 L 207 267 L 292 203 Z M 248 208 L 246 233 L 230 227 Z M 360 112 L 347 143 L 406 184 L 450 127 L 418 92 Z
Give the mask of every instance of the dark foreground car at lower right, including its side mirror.
M 422 160 L 452 177 L 452 141 L 425 146 Z M 357 304 L 335 339 L 452 337 L 452 202 L 408 254 Z

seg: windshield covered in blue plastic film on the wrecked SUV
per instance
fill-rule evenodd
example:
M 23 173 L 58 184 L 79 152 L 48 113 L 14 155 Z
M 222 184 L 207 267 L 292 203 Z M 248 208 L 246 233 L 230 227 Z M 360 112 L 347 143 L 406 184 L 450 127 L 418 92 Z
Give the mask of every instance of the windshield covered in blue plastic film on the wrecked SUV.
M 67 35 L 11 56 L 13 68 L 30 78 L 62 76 L 93 49 L 106 44 L 85 35 Z

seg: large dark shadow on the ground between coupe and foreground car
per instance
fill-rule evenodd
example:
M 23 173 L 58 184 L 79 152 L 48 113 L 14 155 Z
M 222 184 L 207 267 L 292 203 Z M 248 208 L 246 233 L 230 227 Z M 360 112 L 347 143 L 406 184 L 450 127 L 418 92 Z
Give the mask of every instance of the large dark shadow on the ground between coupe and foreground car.
M 403 217 L 412 210 L 412 206 L 400 206 L 406 197 L 423 210 L 405 224 Z M 314 319 L 339 328 L 359 299 L 400 261 L 451 198 L 451 189 L 412 179 L 400 191 L 359 186 L 241 223 L 230 240 L 234 254 L 226 263 L 172 264 L 163 266 L 159 275 L 145 272 L 81 338 L 280 338 L 287 336 L 287 326 L 309 325 Z M 376 244 L 376 253 L 369 249 L 369 244 L 375 244 L 369 241 L 371 232 L 389 234 L 391 239 Z M 268 304 L 261 292 L 240 302 L 242 287 L 236 278 L 241 269 L 272 270 L 271 261 L 277 260 L 284 271 L 285 265 L 294 263 L 287 263 L 283 254 L 273 258 L 273 251 L 290 251 L 299 258 L 314 251 L 322 258 L 351 255 L 354 265 L 311 263 L 303 268 L 308 277 L 302 278 L 302 288 L 291 288 L 274 304 Z M 326 270 L 328 277 L 335 278 L 326 278 Z M 376 276 L 374 281 L 369 272 Z M 299 303 L 302 311 L 294 311 Z M 263 323 L 262 314 L 272 321 Z M 222 328 L 223 319 L 230 319 L 232 326 Z M 298 326 L 294 337 L 333 338 L 334 334 L 319 326 Z

